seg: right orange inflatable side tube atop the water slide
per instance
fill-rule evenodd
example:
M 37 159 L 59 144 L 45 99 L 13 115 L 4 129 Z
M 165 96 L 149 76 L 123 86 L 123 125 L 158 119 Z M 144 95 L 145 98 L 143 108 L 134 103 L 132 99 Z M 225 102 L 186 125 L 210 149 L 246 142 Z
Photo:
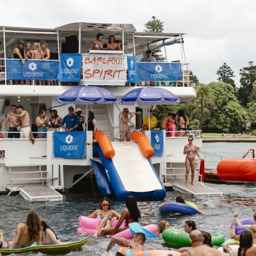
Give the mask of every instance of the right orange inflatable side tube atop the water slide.
M 131 134 L 131 137 L 134 141 L 136 141 L 139 144 L 139 148 L 141 149 L 141 152 L 144 157 L 148 158 L 154 155 L 154 149 L 152 148 L 148 140 L 148 137 L 145 134 L 137 130 L 134 130 Z

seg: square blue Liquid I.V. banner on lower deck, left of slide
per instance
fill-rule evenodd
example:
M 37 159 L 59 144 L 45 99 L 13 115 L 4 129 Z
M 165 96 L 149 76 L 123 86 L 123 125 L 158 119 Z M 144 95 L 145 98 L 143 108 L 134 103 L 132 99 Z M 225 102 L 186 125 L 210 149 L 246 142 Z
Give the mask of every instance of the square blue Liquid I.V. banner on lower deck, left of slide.
M 84 158 L 86 132 L 54 132 L 54 156 Z

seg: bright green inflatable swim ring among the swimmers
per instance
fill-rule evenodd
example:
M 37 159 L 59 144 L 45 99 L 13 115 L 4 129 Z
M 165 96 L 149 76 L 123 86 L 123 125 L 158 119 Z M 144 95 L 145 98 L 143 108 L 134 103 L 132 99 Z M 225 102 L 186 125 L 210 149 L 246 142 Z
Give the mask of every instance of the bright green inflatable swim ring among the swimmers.
M 163 240 L 169 245 L 191 246 L 189 234 L 177 228 L 167 228 L 162 233 Z M 211 244 L 219 246 L 224 242 L 224 236 L 217 233 L 211 233 Z

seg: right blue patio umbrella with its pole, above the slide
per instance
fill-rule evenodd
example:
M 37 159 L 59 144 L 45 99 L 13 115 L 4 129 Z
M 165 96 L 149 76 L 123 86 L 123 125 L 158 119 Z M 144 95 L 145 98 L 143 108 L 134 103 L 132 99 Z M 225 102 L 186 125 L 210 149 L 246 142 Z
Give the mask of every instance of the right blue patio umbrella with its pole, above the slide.
M 176 104 L 180 103 L 180 100 L 177 96 L 164 88 L 148 86 L 135 88 L 122 96 L 120 100 L 120 104 L 123 105 L 134 105 L 135 103 L 139 106 L 148 105 L 148 129 L 150 130 L 149 106 L 156 104 Z

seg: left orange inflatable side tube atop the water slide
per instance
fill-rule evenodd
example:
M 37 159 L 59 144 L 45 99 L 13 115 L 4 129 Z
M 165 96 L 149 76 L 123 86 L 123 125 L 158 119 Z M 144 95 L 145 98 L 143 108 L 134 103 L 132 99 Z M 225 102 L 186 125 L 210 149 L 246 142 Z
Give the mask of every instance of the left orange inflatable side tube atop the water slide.
M 113 148 L 108 136 L 104 134 L 104 132 L 97 130 L 93 134 L 93 137 L 99 143 L 100 148 L 106 158 L 110 159 L 115 156 L 115 149 Z

